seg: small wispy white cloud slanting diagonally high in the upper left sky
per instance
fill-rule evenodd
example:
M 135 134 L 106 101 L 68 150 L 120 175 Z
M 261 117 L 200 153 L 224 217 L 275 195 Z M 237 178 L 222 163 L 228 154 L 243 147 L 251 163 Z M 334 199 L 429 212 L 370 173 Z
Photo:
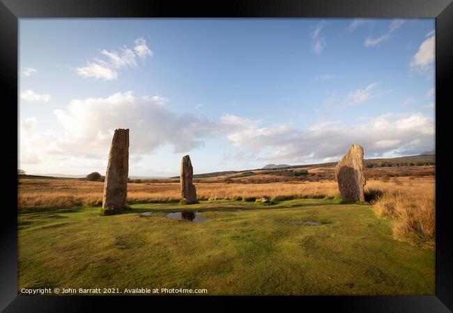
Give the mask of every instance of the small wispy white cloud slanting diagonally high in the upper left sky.
M 87 62 L 85 67 L 76 67 L 75 72 L 81 77 L 94 77 L 95 79 L 111 81 L 118 78 L 116 70 L 123 67 L 137 67 L 136 56 L 140 58 L 153 56 L 153 51 L 146 46 L 143 38 L 139 38 L 135 40 L 134 50 L 124 45 L 119 53 L 115 50 L 102 49 L 100 54 L 105 60 L 94 58 L 94 61 Z

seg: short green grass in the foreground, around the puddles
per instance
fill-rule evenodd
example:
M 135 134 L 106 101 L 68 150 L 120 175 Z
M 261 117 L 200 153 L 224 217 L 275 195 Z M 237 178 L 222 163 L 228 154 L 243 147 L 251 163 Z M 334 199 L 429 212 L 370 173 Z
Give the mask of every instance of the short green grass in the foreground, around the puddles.
M 208 294 L 434 294 L 434 252 L 338 200 L 134 204 L 19 212 L 19 289 L 192 288 Z M 202 223 L 174 220 L 197 210 Z M 139 213 L 152 211 L 151 216 Z M 320 223 L 310 226 L 312 220 Z M 291 222 L 291 223 L 289 223 Z

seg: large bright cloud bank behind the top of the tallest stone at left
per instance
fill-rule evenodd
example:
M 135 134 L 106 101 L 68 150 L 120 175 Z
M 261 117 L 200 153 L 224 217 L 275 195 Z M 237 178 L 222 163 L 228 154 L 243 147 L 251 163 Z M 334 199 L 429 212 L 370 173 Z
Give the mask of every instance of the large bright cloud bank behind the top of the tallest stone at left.
M 20 166 L 29 172 L 84 173 L 105 169 L 114 129 L 130 129 L 130 160 L 169 146 L 174 153 L 204 145 L 206 138 L 250 129 L 255 121 L 224 115 L 216 122 L 176 114 L 161 96 L 132 92 L 105 98 L 74 99 L 54 111 L 61 130 L 38 131 L 36 119 L 20 121 Z

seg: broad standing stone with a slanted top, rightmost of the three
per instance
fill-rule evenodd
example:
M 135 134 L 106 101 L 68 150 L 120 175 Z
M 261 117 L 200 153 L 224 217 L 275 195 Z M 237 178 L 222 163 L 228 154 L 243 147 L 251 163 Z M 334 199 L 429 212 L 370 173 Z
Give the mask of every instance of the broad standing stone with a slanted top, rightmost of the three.
M 335 167 L 335 179 L 337 179 L 342 200 L 364 202 L 363 188 L 367 182 L 363 175 L 362 146 L 351 145 Z

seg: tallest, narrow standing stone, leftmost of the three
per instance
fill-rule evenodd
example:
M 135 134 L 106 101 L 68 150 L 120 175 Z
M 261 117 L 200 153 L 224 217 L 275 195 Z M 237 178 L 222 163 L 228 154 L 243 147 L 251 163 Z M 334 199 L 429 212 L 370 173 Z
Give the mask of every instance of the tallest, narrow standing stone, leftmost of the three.
M 113 214 L 124 209 L 128 195 L 128 173 L 129 129 L 115 129 L 105 173 L 102 198 L 104 214 Z

